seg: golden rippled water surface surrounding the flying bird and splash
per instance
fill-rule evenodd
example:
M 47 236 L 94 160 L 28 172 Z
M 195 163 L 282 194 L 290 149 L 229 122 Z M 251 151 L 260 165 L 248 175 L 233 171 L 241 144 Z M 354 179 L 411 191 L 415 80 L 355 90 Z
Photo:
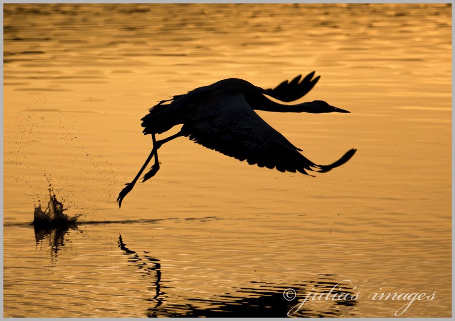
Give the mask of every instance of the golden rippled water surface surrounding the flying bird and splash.
M 5 316 L 286 316 L 343 280 L 358 298 L 294 315 L 436 291 L 401 316 L 450 316 L 450 4 L 5 4 L 4 25 Z M 347 164 L 312 178 L 179 138 L 117 208 L 157 101 L 312 70 L 301 101 L 351 114 L 259 114 L 315 163 L 357 148 Z M 28 225 L 49 183 L 77 227 Z

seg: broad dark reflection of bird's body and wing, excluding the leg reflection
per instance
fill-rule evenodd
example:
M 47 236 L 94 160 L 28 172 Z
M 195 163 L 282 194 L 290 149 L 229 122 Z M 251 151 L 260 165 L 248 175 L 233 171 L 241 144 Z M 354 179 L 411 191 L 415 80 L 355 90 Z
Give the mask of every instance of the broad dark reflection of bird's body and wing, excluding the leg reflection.
M 329 294 L 338 281 L 315 280 L 296 284 L 273 284 L 251 282 L 251 287 L 237 288 L 234 293 L 225 293 L 210 298 L 166 298 L 159 309 L 149 308 L 147 316 L 159 317 L 349 317 L 355 315 L 354 299 L 319 300 L 300 304 L 307 293 L 318 296 Z M 286 289 L 297 293 L 288 301 L 283 293 Z M 313 290 L 315 289 L 315 290 Z M 338 295 L 355 297 L 353 289 L 343 286 Z M 178 302 L 183 301 L 183 302 Z M 177 303 L 178 302 L 178 303 Z

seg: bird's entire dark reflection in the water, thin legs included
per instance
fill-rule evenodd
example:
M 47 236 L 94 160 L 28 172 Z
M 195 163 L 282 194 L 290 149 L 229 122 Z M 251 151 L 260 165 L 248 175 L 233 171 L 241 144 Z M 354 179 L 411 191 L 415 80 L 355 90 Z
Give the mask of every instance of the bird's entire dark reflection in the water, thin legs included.
M 286 317 L 289 314 L 298 317 L 348 317 L 354 316 L 355 288 L 350 284 L 339 284 L 342 280 L 336 275 L 320 275 L 313 281 L 297 282 L 294 284 L 276 284 L 250 282 L 250 286 L 232 288 L 230 293 L 210 296 L 209 298 L 179 297 L 166 295 L 161 285 L 160 260 L 148 255 L 138 254 L 126 247 L 121 235 L 118 246 L 128 256 L 128 262 L 150 277 L 154 284 L 153 297 L 147 299 L 153 306 L 147 309 L 148 317 Z M 284 292 L 293 289 L 296 297 L 289 300 Z M 197 293 L 197 291 L 195 291 Z M 337 295 L 340 300 L 319 300 L 300 303 L 308 294 Z

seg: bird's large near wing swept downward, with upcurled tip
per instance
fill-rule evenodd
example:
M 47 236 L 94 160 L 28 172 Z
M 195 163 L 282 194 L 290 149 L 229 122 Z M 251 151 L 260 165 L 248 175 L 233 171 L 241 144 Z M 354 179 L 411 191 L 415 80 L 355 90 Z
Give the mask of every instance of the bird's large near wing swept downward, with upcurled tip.
M 355 150 L 348 151 L 332 165 L 316 165 L 299 153 L 282 134 L 259 117 L 241 94 L 219 96 L 196 113 L 182 127 L 185 136 L 207 148 L 259 167 L 280 172 L 306 170 L 328 172 L 346 163 Z

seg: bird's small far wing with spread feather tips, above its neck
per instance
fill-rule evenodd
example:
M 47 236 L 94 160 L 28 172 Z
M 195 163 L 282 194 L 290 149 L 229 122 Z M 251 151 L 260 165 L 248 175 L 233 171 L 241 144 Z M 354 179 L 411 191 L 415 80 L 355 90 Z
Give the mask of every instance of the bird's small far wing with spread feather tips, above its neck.
M 308 93 L 321 77 L 317 76 L 311 80 L 313 76 L 314 71 L 300 81 L 302 75 L 298 75 L 291 82 L 285 80 L 274 89 L 265 89 L 265 94 L 286 102 L 297 100 Z

